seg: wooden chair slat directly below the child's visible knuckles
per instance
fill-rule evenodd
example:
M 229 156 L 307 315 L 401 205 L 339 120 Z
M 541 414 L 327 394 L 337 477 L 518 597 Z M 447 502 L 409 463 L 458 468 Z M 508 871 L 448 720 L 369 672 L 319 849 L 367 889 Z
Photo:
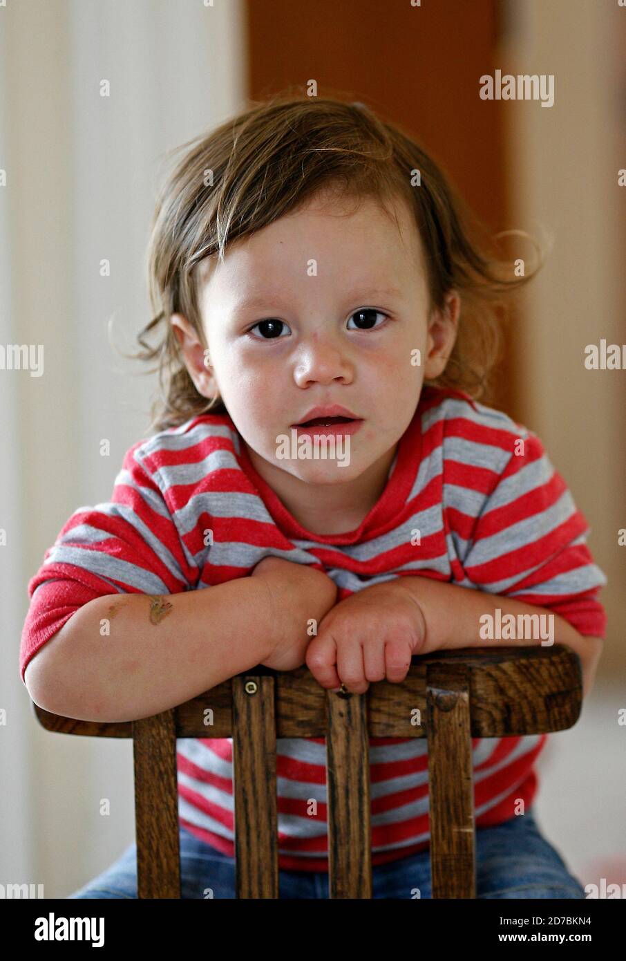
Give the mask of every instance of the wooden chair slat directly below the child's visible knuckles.
M 370 744 L 365 695 L 325 692 L 330 898 L 372 898 Z

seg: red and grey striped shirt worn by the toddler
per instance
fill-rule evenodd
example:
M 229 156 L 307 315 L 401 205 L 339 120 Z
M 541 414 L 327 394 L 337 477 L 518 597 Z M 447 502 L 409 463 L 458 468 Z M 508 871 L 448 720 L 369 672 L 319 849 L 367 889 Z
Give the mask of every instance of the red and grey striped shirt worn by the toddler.
M 268 554 L 321 567 L 339 600 L 430 577 L 541 605 L 604 637 L 607 579 L 588 533 L 540 439 L 460 391 L 423 388 L 380 499 L 356 530 L 327 536 L 302 528 L 258 476 L 229 415 L 205 414 L 134 444 L 110 501 L 80 507 L 60 530 L 28 585 L 20 671 L 93 598 L 199 590 L 246 577 Z M 530 805 L 546 740 L 472 739 L 477 826 Z M 181 825 L 234 856 L 231 739 L 181 738 L 177 756 Z M 373 865 L 426 850 L 425 738 L 372 738 L 370 762 Z M 278 740 L 277 795 L 279 867 L 327 871 L 324 738 Z

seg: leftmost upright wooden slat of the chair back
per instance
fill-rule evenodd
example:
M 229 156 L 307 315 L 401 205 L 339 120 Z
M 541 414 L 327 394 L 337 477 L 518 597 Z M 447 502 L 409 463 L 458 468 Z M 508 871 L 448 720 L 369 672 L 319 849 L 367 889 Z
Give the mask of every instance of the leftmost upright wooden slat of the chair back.
M 137 898 L 181 897 L 174 710 L 132 721 Z

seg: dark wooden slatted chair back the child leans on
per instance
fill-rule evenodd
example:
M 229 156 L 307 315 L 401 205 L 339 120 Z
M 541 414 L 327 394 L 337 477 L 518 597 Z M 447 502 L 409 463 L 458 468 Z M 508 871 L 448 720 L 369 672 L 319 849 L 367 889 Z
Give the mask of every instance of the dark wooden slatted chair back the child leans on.
M 277 898 L 277 737 L 325 737 L 330 898 L 372 898 L 369 737 L 427 737 L 433 898 L 475 898 L 471 738 L 572 727 L 580 659 L 551 647 L 413 657 L 400 684 L 331 694 L 306 667 L 257 667 L 155 717 L 100 724 L 34 704 L 47 730 L 132 737 L 137 895 L 180 898 L 176 739 L 231 737 L 238 898 Z

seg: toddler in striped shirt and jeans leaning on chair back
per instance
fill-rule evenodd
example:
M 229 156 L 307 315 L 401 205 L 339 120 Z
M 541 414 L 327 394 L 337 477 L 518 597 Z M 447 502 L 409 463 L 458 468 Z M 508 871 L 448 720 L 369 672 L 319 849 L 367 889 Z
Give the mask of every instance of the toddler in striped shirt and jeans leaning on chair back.
M 137 355 L 156 432 L 29 583 L 34 701 L 130 721 L 304 663 L 362 694 L 522 614 L 549 615 L 589 693 L 607 580 L 588 524 L 541 440 L 478 400 L 497 310 L 537 271 L 490 258 L 436 163 L 363 105 L 281 95 L 183 147 Z M 546 740 L 472 740 L 479 898 L 585 897 L 533 816 Z M 233 898 L 231 740 L 177 748 L 182 897 Z M 370 758 L 373 895 L 429 898 L 426 740 Z M 327 897 L 324 738 L 278 740 L 277 791 L 280 897 Z M 134 857 L 71 897 L 136 898 Z

